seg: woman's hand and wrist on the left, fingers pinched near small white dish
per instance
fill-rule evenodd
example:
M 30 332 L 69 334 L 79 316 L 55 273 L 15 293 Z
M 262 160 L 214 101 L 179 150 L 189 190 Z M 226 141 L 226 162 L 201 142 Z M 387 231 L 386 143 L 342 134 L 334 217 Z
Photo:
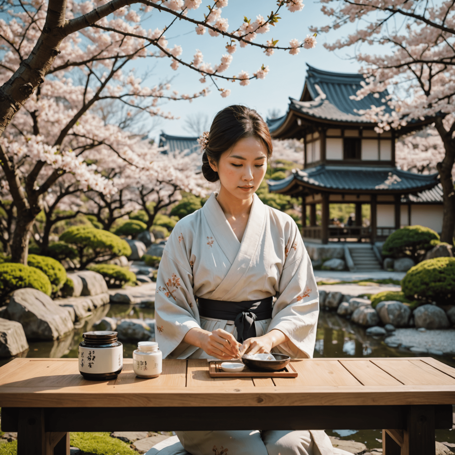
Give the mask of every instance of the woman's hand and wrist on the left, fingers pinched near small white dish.
M 241 344 L 232 334 L 223 329 L 212 332 L 193 328 L 183 338 L 188 344 L 201 348 L 204 352 L 220 360 L 229 360 L 238 356 Z

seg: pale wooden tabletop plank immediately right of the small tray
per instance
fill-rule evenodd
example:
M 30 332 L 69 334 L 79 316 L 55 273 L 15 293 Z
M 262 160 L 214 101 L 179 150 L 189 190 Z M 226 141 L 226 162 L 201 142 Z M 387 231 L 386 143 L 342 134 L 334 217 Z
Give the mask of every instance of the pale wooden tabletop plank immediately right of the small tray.
M 344 368 L 338 360 L 305 359 L 293 362 L 297 378 L 274 378 L 277 386 L 314 385 L 314 386 L 340 386 L 362 384 Z

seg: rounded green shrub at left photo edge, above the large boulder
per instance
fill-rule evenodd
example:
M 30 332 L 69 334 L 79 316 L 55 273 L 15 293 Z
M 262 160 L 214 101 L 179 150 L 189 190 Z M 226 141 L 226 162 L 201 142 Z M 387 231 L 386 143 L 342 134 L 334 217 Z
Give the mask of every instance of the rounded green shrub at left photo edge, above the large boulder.
M 21 288 L 35 288 L 49 296 L 52 293 L 51 282 L 40 269 L 18 263 L 0 264 L 0 300 Z

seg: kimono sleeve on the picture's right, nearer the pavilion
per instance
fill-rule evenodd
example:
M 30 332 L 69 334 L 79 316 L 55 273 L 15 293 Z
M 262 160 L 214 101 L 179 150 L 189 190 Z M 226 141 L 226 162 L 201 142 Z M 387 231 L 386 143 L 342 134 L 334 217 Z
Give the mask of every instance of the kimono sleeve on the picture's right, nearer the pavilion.
M 289 341 L 273 350 L 294 359 L 312 358 L 319 316 L 319 292 L 313 267 L 297 225 L 293 223 L 284 251 L 279 296 L 268 332 L 278 329 Z

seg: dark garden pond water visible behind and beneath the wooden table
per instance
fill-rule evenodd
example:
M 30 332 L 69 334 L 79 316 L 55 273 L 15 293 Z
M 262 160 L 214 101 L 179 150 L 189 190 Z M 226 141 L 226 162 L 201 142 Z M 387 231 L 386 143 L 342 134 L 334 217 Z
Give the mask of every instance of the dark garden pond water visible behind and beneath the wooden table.
M 23 357 L 77 357 L 77 346 L 82 341 L 82 334 L 93 329 L 93 324 L 104 316 L 116 319 L 153 319 L 153 308 L 141 308 L 138 305 L 112 304 L 97 308 L 96 313 L 79 324 L 74 332 L 64 339 L 57 341 L 30 342 L 30 349 L 22 354 Z M 136 344 L 124 343 L 123 356 L 132 358 Z M 430 354 L 414 354 L 408 349 L 392 348 L 384 343 L 382 337 L 372 337 L 365 329 L 349 320 L 340 318 L 336 313 L 321 311 L 319 313 L 318 329 L 314 357 L 421 357 Z M 435 359 L 455 367 L 452 356 L 431 355 Z M 0 366 L 11 359 L 2 359 Z M 380 442 L 382 430 L 327 430 L 328 435 L 340 439 L 355 440 L 364 443 L 369 449 L 382 447 Z M 436 430 L 436 440 L 455 443 L 455 432 L 451 430 Z

